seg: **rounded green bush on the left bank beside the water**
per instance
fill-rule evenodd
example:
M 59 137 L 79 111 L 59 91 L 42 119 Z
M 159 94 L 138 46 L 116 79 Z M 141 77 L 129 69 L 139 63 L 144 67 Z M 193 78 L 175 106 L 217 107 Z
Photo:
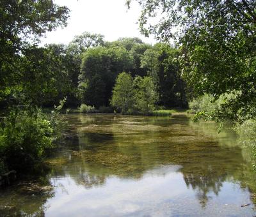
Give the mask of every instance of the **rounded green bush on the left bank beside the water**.
M 0 157 L 8 170 L 26 170 L 54 147 L 57 132 L 41 110 L 13 111 L 0 128 Z

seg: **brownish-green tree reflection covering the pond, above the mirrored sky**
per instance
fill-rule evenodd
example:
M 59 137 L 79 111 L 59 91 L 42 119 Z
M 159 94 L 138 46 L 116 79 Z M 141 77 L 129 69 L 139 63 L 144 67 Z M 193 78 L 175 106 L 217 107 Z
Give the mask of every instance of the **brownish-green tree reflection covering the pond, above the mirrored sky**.
M 204 209 L 213 195 L 220 194 L 225 182 L 239 184 L 252 197 L 256 192 L 255 173 L 250 161 L 244 158 L 244 149 L 232 134 L 218 135 L 213 123 L 192 123 L 184 115 L 172 118 L 72 115 L 67 120 L 68 140 L 47 160 L 51 172 L 44 178 L 51 180 L 54 189 L 58 185 L 61 191 L 72 193 L 58 182 L 65 177 L 90 190 L 103 188 L 111 177 L 138 182 L 148 174 L 164 177 L 172 174 L 173 169 L 163 168 L 179 165 L 175 171 L 182 174 L 183 182 L 194 191 Z M 16 206 L 15 210 L 44 213 L 45 201 L 55 191 L 35 196 L 35 209 L 27 211 L 26 200 L 31 203 L 31 197 L 25 193 L 22 207 Z M 8 198 L 5 206 L 12 204 L 11 200 L 20 200 L 22 193 L 17 192 L 0 197 L 2 201 L 3 197 Z

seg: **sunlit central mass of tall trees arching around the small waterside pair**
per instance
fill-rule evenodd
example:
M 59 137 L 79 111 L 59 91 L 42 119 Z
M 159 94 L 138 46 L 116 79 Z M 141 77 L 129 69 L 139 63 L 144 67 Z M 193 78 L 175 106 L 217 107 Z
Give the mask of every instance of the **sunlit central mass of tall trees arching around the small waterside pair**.
M 120 38 L 106 42 L 105 47 L 87 49 L 79 75 L 80 99 L 82 103 L 97 108 L 108 106 L 116 77 L 122 71 L 129 71 L 132 77 L 148 75 L 152 78 L 159 104 L 184 107 L 186 97 L 178 56 L 179 50 L 169 45 L 152 47 L 138 38 Z

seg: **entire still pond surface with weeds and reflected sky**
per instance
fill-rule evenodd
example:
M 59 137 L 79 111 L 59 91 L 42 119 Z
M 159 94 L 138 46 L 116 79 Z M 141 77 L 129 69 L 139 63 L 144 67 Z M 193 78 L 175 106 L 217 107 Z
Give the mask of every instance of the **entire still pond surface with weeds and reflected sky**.
M 2 215 L 255 216 L 256 173 L 232 131 L 184 114 L 66 119 L 42 187 L 0 191 Z

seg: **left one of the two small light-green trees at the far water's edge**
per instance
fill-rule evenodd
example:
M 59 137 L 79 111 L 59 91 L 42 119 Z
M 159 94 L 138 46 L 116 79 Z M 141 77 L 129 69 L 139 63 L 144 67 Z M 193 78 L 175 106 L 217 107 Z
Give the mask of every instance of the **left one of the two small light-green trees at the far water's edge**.
M 116 84 L 113 88 L 111 105 L 120 109 L 123 114 L 126 114 L 133 107 L 134 93 L 131 74 L 120 73 L 116 78 Z

